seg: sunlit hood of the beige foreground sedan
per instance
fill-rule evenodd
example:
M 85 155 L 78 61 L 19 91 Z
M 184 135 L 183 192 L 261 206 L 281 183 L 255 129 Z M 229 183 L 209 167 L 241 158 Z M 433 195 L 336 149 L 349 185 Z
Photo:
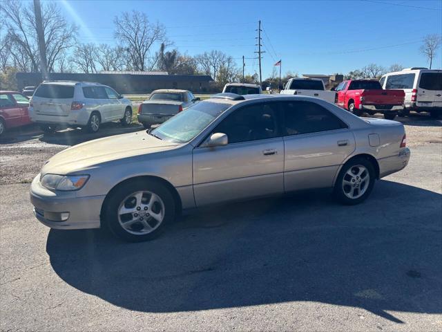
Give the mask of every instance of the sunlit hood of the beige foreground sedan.
M 74 145 L 50 158 L 41 169 L 44 174 L 70 174 L 122 158 L 173 149 L 177 144 L 165 142 L 146 131 L 90 140 Z

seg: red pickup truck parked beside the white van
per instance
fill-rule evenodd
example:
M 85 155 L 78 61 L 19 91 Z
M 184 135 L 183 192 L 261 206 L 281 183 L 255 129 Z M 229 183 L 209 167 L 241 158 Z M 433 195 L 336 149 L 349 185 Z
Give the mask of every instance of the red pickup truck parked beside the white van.
M 370 115 L 383 113 L 384 118 L 393 120 L 403 109 L 403 90 L 383 90 L 374 80 L 347 80 L 336 86 L 335 103 L 356 116 L 366 112 Z

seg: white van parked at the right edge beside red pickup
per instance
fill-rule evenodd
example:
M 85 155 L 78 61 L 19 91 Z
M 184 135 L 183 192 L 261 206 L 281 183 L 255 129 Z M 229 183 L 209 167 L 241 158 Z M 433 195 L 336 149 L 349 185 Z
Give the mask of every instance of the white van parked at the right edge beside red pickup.
M 383 89 L 402 89 L 405 92 L 404 109 L 399 116 L 410 111 L 427 111 L 432 118 L 442 115 L 442 71 L 421 67 L 405 68 L 381 77 Z

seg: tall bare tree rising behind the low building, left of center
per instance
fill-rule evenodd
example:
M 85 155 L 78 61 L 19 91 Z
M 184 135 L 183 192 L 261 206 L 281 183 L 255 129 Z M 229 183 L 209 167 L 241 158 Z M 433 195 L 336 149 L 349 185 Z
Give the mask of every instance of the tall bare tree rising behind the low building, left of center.
M 159 23 L 152 24 L 144 12 L 133 10 L 115 17 L 115 37 L 128 50 L 135 71 L 145 71 L 149 54 L 155 43 L 164 42 L 166 29 Z M 152 65 L 151 65 L 152 66 Z M 155 66 L 155 64 L 153 65 Z

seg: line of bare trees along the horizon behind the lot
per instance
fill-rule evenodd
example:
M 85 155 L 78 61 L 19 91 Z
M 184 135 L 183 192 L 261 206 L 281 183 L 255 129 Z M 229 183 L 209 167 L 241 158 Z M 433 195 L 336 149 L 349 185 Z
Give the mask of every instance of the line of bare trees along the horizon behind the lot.
M 166 28 L 150 21 L 144 12 L 122 12 L 113 19 L 115 45 L 81 42 L 78 38 L 79 27 L 66 20 L 55 2 L 42 3 L 41 16 L 49 73 L 166 71 L 171 75 L 203 74 L 215 80 L 215 89 L 227 82 L 258 82 L 256 74 L 242 77 L 236 60 L 220 50 L 194 56 L 181 53 L 173 47 Z M 425 37 L 420 51 L 430 66 L 440 44 L 439 35 Z M 37 25 L 32 2 L 0 1 L 1 86 L 12 89 L 15 73 L 38 72 L 39 66 Z M 344 76 L 346 79 L 373 78 L 402 68 L 399 64 L 393 64 L 390 68 L 369 64 Z M 282 82 L 296 76 L 297 73 L 287 72 Z M 277 72 L 273 70 L 263 86 L 277 88 L 278 81 Z

